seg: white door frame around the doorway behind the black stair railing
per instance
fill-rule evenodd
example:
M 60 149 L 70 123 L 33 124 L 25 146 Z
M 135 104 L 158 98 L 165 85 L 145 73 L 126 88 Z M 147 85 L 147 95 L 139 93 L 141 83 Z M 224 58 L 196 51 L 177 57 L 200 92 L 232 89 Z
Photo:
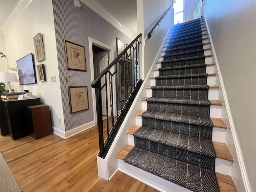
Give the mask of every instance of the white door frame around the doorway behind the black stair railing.
M 108 56 L 109 56 L 109 62 L 111 63 L 114 60 L 114 48 L 110 47 L 102 42 L 99 42 L 98 40 L 95 40 L 91 37 L 88 37 L 89 40 L 89 53 L 90 53 L 90 67 L 91 67 L 91 78 L 92 81 L 95 79 L 94 77 L 94 64 L 93 64 L 93 52 L 92 52 L 92 45 L 100 47 L 104 50 L 108 51 Z M 113 69 L 112 69 L 113 70 Z M 111 72 L 114 72 L 110 70 Z M 112 82 L 113 85 L 115 85 L 115 82 Z M 94 88 L 92 88 L 92 102 L 93 102 L 93 112 L 94 112 L 94 125 L 97 124 L 97 107 L 96 107 L 96 96 L 95 96 L 95 91 Z M 113 101 L 116 100 L 116 88 L 113 87 Z M 116 108 L 116 102 L 113 103 L 113 108 Z M 114 116 L 116 116 L 116 110 L 114 111 Z

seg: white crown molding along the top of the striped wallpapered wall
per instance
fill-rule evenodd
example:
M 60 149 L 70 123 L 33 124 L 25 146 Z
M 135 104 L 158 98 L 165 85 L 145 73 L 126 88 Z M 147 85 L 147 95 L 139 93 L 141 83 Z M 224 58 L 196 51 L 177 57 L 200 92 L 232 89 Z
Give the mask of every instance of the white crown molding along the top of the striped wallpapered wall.
M 136 35 L 133 34 L 128 28 L 126 28 L 122 23 L 120 23 L 112 14 L 110 14 L 105 8 L 103 8 L 98 2 L 95 0 L 81 0 L 86 6 L 96 12 L 99 16 L 104 18 L 107 22 L 109 22 L 112 26 L 120 30 L 130 39 L 136 38 Z

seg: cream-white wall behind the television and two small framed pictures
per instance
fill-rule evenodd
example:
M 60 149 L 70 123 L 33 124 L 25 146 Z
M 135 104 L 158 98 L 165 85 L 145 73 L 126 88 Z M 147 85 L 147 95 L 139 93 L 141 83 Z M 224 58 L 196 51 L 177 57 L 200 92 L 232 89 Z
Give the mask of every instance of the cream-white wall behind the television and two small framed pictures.
M 54 30 L 54 18 L 52 0 L 33 0 L 20 16 L 12 22 L 10 28 L 4 31 L 4 42 L 10 65 L 14 60 L 33 53 L 33 37 L 40 32 L 44 42 L 46 60 L 36 62 L 35 65 L 43 63 L 46 71 L 46 82 L 38 81 L 37 84 L 24 85 L 22 90 L 30 90 L 41 98 L 41 102 L 49 105 L 52 116 L 52 126 L 65 130 L 62 109 L 62 99 L 60 95 L 59 72 L 56 52 L 56 39 Z M 57 82 L 51 82 L 51 76 L 56 76 Z M 19 84 L 12 83 L 14 90 L 19 91 Z M 15 85 L 16 84 L 16 85 Z M 58 123 L 61 118 L 62 124 Z

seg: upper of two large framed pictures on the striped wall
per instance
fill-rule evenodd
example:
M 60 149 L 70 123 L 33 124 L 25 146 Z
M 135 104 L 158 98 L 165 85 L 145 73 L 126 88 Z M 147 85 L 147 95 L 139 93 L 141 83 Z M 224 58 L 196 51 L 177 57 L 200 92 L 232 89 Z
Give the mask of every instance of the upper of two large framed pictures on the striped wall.
M 64 40 L 64 48 L 67 69 L 86 71 L 84 46 Z

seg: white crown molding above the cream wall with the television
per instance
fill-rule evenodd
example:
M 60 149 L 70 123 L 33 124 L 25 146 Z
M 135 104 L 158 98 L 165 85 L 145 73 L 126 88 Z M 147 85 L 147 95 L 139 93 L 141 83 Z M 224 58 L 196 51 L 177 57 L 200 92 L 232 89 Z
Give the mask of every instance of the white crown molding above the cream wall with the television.
M 12 22 L 14 22 L 14 20 L 16 20 L 16 18 L 18 18 L 20 14 L 26 9 L 30 2 L 32 2 L 32 0 L 19 0 L 16 3 L 13 10 L 10 12 L 9 16 L 7 17 L 4 24 L 2 24 L 0 28 L 0 31 L 2 31 L 3 34 L 6 32 L 6 30 L 8 30 Z

